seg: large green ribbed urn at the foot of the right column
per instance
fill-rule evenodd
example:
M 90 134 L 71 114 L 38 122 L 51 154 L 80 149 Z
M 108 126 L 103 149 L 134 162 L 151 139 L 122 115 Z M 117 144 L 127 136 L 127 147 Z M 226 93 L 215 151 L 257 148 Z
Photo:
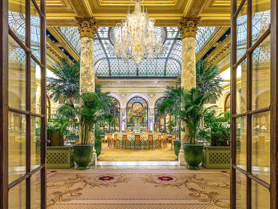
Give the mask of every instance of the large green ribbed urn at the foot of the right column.
M 187 169 L 200 170 L 198 165 L 203 159 L 203 144 L 183 144 L 183 157 L 187 163 Z

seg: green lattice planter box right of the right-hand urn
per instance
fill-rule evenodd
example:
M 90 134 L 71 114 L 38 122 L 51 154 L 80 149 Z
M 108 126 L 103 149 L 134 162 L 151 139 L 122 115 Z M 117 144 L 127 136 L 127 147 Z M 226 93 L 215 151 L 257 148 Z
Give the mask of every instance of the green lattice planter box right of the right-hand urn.
M 204 146 L 202 166 L 205 168 L 230 168 L 230 147 Z

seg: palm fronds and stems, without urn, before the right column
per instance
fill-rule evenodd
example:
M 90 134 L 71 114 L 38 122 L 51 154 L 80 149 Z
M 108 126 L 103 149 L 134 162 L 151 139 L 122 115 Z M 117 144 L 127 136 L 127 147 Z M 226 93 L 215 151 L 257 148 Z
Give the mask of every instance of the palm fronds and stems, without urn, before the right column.
M 168 108 L 175 107 L 170 114 L 178 118 L 180 129 L 183 132 L 188 129 L 188 142 L 195 143 L 197 131 L 200 129 L 200 119 L 205 111 L 215 107 L 211 106 L 203 110 L 204 103 L 212 94 L 205 96 L 200 94 L 197 88 L 186 90 L 183 87 L 171 89 L 171 94 L 175 100 L 166 98 L 159 109 L 166 111 Z

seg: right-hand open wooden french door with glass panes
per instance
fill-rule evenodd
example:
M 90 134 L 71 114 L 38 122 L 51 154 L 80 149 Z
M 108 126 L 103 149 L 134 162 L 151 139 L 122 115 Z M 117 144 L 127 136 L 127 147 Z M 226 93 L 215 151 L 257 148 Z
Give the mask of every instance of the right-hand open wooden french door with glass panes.
M 276 0 L 231 1 L 231 209 L 278 208 L 276 13 Z

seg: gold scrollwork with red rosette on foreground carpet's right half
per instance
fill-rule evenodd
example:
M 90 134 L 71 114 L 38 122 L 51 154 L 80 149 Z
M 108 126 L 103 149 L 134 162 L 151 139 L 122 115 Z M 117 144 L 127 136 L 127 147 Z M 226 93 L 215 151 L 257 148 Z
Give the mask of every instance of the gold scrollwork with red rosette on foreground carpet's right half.
M 185 188 L 190 190 L 190 196 L 193 198 L 198 198 L 200 199 L 200 202 L 213 202 L 213 204 L 218 207 L 218 208 L 230 208 L 230 204 L 227 204 L 223 201 L 219 201 L 217 197 L 221 195 L 219 192 L 216 191 L 211 191 L 209 189 L 218 189 L 218 190 L 223 190 L 230 194 L 230 183 L 223 182 L 223 183 L 218 183 L 218 182 L 210 182 L 207 183 L 203 178 L 198 178 L 197 175 L 190 175 L 187 176 L 185 175 L 184 177 L 181 177 L 180 179 L 175 178 L 175 177 L 169 177 L 169 176 L 161 176 L 161 175 L 151 175 L 151 174 L 142 174 L 145 177 L 141 177 L 142 180 L 148 183 L 155 184 L 155 187 L 175 187 L 175 188 L 180 188 L 184 186 Z M 160 176 L 160 177 L 157 177 Z M 157 177 L 157 178 L 155 178 Z M 169 183 L 162 183 L 162 182 L 157 182 L 155 180 L 160 180 L 160 181 L 172 181 Z M 181 180 L 181 181 L 179 181 Z M 191 184 L 196 184 L 199 186 L 198 189 L 194 188 L 193 185 Z

